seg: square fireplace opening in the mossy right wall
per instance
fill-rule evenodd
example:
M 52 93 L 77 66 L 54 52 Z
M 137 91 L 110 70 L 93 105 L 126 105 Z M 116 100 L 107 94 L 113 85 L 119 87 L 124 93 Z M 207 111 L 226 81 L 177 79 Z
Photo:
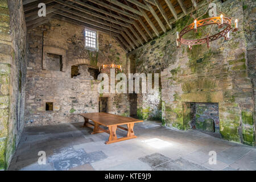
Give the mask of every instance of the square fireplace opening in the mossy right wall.
M 191 102 L 191 129 L 220 133 L 218 103 Z

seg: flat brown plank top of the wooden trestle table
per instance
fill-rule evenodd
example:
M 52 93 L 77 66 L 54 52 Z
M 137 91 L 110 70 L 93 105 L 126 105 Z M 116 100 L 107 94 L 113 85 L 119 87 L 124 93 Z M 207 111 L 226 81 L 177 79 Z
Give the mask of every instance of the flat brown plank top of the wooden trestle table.
M 143 122 L 143 120 L 140 120 L 140 119 L 129 118 L 129 117 L 124 117 L 121 115 L 115 115 L 110 113 L 82 113 L 79 115 L 107 127 L 115 126 L 115 125 L 126 125 L 128 123 Z

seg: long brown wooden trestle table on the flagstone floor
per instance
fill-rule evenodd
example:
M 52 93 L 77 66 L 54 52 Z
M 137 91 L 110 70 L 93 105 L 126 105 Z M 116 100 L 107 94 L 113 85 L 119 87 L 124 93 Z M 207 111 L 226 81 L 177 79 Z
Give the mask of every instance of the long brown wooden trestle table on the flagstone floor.
M 134 119 L 134 118 L 128 118 L 123 117 L 121 115 L 115 115 L 115 114 L 109 114 L 109 113 L 84 113 L 79 114 L 82 117 L 84 117 L 84 126 L 93 126 L 93 133 L 108 133 L 109 134 L 109 140 L 106 141 L 106 144 L 114 143 L 114 142 L 120 142 L 127 139 L 137 138 L 134 135 L 134 123 L 143 122 L 143 120 Z M 93 123 L 89 122 L 89 119 L 93 121 Z M 106 126 L 108 127 L 108 130 L 102 129 L 100 126 Z M 127 125 L 127 129 L 125 127 L 122 127 L 120 125 Z M 122 138 L 117 138 L 117 134 L 115 133 L 117 128 L 126 130 L 127 136 Z

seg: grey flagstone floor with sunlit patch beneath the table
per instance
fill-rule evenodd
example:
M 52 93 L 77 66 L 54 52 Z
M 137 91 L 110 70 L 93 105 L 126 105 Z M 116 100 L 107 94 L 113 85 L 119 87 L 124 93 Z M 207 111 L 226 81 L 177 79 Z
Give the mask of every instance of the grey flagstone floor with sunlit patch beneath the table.
M 135 124 L 138 138 L 106 145 L 108 134 L 91 135 L 82 124 L 26 127 L 9 170 L 256 170 L 255 147 L 200 131 L 145 121 Z M 39 151 L 46 164 L 38 164 Z M 216 164 L 209 164 L 209 151 L 217 153 Z

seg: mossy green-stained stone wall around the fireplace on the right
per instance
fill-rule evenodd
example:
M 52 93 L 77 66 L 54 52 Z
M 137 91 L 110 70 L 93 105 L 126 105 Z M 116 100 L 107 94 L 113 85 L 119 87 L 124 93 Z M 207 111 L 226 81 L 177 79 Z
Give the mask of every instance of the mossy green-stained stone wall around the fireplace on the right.
M 161 72 L 162 98 L 158 101 L 162 102 L 164 126 L 189 129 L 189 102 L 216 102 L 219 105 L 222 138 L 254 145 L 252 77 L 255 78 L 255 73 L 249 73 L 249 69 L 255 70 L 255 61 L 248 58 L 249 48 L 246 46 L 246 36 L 252 36 L 254 29 L 245 30 L 243 27 L 243 22 L 247 21 L 243 1 L 214 2 L 219 11 L 233 17 L 232 24 L 235 18 L 239 20 L 240 30 L 230 32 L 230 40 L 218 39 L 210 43 L 209 49 L 206 45 L 193 46 L 191 51 L 185 46 L 176 48 L 176 31 L 180 32 L 185 25 L 193 22 L 190 16 L 185 16 L 176 22 L 171 31 L 131 52 L 129 58 L 137 64 L 137 72 Z M 204 13 L 206 9 L 203 7 L 197 12 Z M 198 31 L 196 36 L 202 33 Z M 253 53 L 250 55 L 255 56 Z M 141 110 L 141 105 L 142 109 L 155 108 L 148 102 L 149 99 L 138 96 L 138 110 Z M 142 113 L 148 115 L 148 110 Z

